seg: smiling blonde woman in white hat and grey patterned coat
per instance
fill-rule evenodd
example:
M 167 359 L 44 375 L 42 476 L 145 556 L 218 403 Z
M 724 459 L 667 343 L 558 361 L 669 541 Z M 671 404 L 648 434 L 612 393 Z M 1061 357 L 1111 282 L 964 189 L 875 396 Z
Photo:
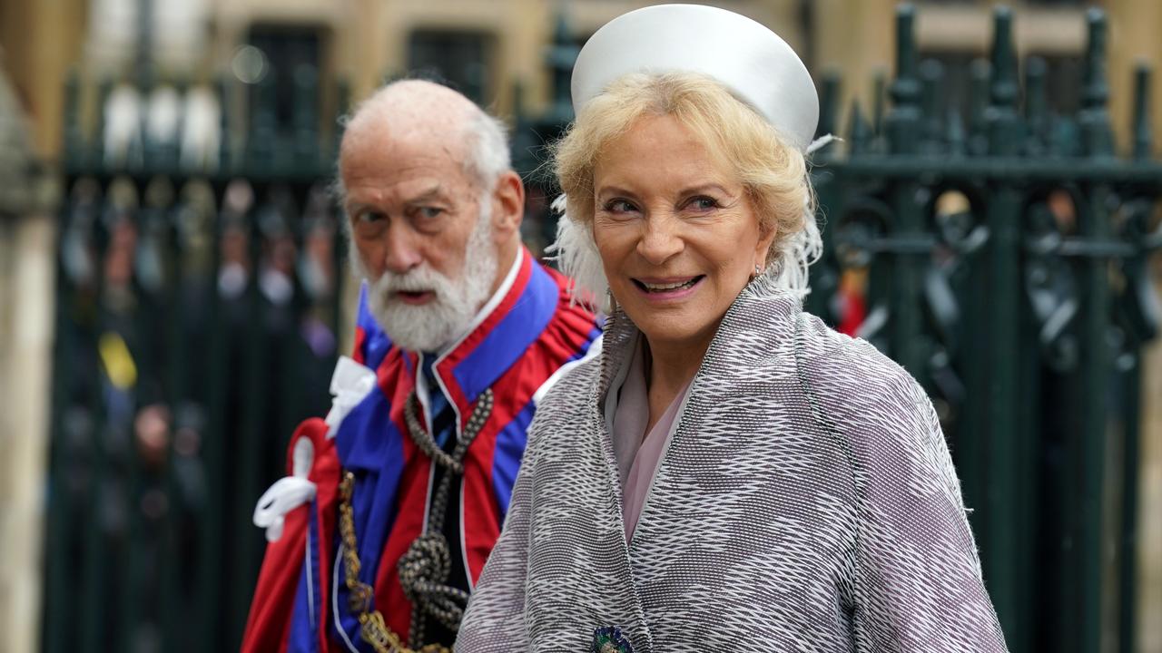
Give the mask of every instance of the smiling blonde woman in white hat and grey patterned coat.
M 598 30 L 558 252 L 609 309 L 540 403 L 457 650 L 1005 650 L 924 392 L 803 313 L 818 99 L 765 27 Z

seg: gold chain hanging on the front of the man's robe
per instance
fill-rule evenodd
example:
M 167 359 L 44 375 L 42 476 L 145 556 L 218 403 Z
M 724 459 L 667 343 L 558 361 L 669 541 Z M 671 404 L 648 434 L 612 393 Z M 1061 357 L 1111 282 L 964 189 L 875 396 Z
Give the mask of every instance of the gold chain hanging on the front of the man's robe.
M 371 644 L 376 653 L 452 653 L 451 648 L 439 644 L 429 644 L 421 648 L 408 648 L 399 634 L 392 632 L 383 620 L 383 613 L 374 609 L 375 595 L 371 586 L 359 580 L 359 553 L 356 541 L 354 510 L 351 508 L 351 495 L 354 493 L 356 475 L 343 473 L 339 485 L 339 534 L 343 538 L 343 566 L 346 571 L 345 582 L 351 611 L 359 618 L 359 633 L 364 641 Z M 338 624 L 336 624 L 338 627 Z

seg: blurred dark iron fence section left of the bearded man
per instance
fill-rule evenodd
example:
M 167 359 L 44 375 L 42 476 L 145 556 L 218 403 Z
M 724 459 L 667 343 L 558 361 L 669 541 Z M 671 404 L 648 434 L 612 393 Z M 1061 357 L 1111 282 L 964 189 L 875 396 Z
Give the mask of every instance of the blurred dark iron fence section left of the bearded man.
M 296 423 L 329 408 L 344 333 L 337 134 L 316 128 L 313 71 L 296 88 L 293 132 L 259 88 L 245 148 L 223 117 L 209 157 L 145 130 L 85 139 L 70 116 L 48 651 L 237 648 L 264 544 L 253 503 Z

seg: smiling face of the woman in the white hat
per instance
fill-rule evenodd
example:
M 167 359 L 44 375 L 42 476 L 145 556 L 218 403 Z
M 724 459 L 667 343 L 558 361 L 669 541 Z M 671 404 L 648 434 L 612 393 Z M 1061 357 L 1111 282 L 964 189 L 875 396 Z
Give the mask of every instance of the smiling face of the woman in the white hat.
M 662 84 L 677 86 L 675 78 Z M 766 267 L 776 235 L 786 241 L 789 231 L 759 220 L 773 215 L 755 211 L 765 203 L 759 193 L 703 143 L 679 117 L 639 117 L 602 148 L 587 195 L 614 296 L 655 352 L 676 347 L 694 360 L 743 286 Z M 797 203 L 791 215 L 802 223 Z

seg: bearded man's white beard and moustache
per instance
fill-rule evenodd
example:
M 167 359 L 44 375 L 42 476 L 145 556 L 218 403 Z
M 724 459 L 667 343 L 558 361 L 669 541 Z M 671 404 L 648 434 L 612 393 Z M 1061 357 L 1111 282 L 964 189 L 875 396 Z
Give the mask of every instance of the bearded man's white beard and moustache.
M 400 347 L 415 352 L 438 352 L 464 336 L 476 311 L 488 301 L 496 277 L 496 252 L 492 242 L 492 202 L 480 202 L 480 216 L 464 251 L 459 279 L 436 272 L 428 261 L 404 273 L 383 272 L 371 279 L 358 251 L 352 252 L 354 275 L 367 280 L 367 304 L 375 322 Z M 400 290 L 431 290 L 432 301 L 423 306 L 390 301 Z

